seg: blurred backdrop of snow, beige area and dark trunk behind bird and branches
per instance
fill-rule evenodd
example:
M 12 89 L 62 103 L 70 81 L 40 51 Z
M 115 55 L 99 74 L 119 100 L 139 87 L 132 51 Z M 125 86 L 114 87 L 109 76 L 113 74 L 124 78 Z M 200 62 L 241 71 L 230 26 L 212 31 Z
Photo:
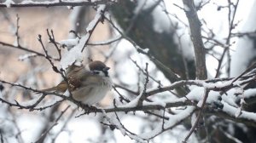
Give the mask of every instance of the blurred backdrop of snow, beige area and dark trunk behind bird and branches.
M 195 1 L 201 20 L 202 39 L 206 47 L 208 79 L 236 77 L 252 65 L 256 55 L 254 45 L 256 25 L 253 18 L 256 14 L 252 10 L 254 5 L 254 1 Z M 151 76 L 148 89 L 165 87 L 178 80 L 195 79 L 195 51 L 190 40 L 189 23 L 182 2 L 119 1 L 109 6 L 108 10 L 110 21 L 104 20 L 96 26 L 86 47 L 84 61 L 88 58 L 102 60 L 110 66 L 110 77 L 118 92 L 113 89 L 96 106 L 113 106 L 113 99 L 121 105 L 119 94 L 125 95 L 129 100 L 135 99 L 145 83 L 146 76 L 143 70 L 146 68 L 146 63 Z M 55 41 L 58 43 L 75 39 L 76 35 L 80 37 L 86 34 L 85 29 L 95 15 L 96 6 L 1 7 L 0 79 L 10 83 L 20 83 L 33 89 L 46 89 L 61 82 L 60 74 L 52 70 L 48 60 L 40 56 L 31 56 L 26 50 L 18 49 L 17 46 L 44 54 L 44 49 L 38 42 L 40 34 L 49 55 L 58 57 L 55 46 L 49 43 L 46 30 L 54 32 Z M 117 29 L 124 35 L 120 35 Z M 108 43 L 112 39 L 116 40 Z M 141 49 L 137 46 L 146 54 L 141 54 L 143 52 L 140 52 Z M 67 48 L 61 48 L 62 55 L 66 52 Z M 58 60 L 54 60 L 54 63 L 60 67 Z M 166 70 L 166 67 L 173 74 Z M 8 85 L 2 87 L 4 89 L 1 97 L 9 102 L 17 100 L 20 104 L 27 105 L 38 97 L 38 94 L 24 89 Z M 254 88 L 254 84 L 250 84 L 247 88 Z M 150 100 L 155 102 L 173 100 L 185 94 L 188 94 L 188 90 L 181 88 L 156 94 L 150 97 Z M 39 106 L 51 105 L 56 100 L 55 97 L 48 97 Z M 1 141 L 137 142 L 118 129 L 111 129 L 102 123 L 105 120 L 102 114 L 90 113 L 78 117 L 83 111 L 74 105 L 71 107 L 68 105 L 72 103 L 61 102 L 43 111 L 29 112 L 0 103 Z M 254 104 L 248 105 L 247 110 L 255 112 L 254 106 Z M 61 115 L 65 109 L 67 112 Z M 170 108 L 170 111 L 170 114 L 175 114 L 183 111 L 183 108 Z M 57 120 L 59 116 L 61 118 Z M 109 114 L 109 117 L 116 118 L 114 113 Z M 205 134 L 193 134 L 189 142 L 256 140 L 253 135 L 256 133 L 254 127 L 212 115 L 207 117 L 206 126 L 211 137 L 206 139 Z M 160 118 L 144 112 L 120 112 L 119 120 L 126 129 L 135 134 L 151 131 L 161 122 Z M 189 132 L 191 127 L 189 123 L 190 118 L 150 142 L 181 142 Z

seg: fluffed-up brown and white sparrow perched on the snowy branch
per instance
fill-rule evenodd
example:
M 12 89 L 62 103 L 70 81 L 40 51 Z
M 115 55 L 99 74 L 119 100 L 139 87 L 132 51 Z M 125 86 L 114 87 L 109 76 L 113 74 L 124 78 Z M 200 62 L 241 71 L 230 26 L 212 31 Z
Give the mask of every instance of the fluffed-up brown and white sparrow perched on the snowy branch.
M 86 66 L 70 66 L 65 80 L 53 88 L 43 89 L 43 92 L 65 93 L 67 89 L 74 100 L 91 106 L 102 100 L 108 90 L 112 89 L 112 81 L 108 75 L 110 68 L 100 60 L 90 61 Z

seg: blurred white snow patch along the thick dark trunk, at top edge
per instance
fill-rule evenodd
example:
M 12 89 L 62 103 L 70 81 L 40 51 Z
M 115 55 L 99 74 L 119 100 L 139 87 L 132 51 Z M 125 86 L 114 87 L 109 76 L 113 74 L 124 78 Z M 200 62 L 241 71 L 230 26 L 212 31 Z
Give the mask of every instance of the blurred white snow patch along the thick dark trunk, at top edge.
M 192 44 L 188 26 L 185 26 L 188 25 L 188 20 L 183 10 L 174 5 L 174 3 L 177 5 L 183 5 L 183 3 L 181 1 L 165 1 L 165 3 L 166 9 L 164 6 L 157 6 L 152 12 L 154 18 L 154 31 L 159 33 L 174 32 L 172 38 L 179 46 L 185 59 L 193 60 L 194 49 L 191 48 Z M 168 14 L 166 14 L 164 10 L 166 10 Z M 180 22 L 180 20 L 182 20 L 183 23 Z

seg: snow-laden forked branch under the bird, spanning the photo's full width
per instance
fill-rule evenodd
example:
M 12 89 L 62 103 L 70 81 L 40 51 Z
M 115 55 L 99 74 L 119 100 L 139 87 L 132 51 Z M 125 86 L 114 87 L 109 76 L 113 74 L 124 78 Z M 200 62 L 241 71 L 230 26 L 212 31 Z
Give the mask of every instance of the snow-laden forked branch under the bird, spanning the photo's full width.
M 103 116 L 106 117 L 108 121 L 108 123 L 103 124 L 108 124 L 110 127 L 119 129 L 124 135 L 128 135 L 132 140 L 144 142 L 153 139 L 155 136 L 162 134 L 166 130 L 175 128 L 180 123 L 183 123 L 183 121 L 187 117 L 190 117 L 195 111 L 200 112 L 196 121 L 199 121 L 199 118 L 202 116 L 202 114 L 204 114 L 224 117 L 226 119 L 234 120 L 238 123 L 250 123 L 250 125 L 256 125 L 256 113 L 242 111 L 241 107 L 239 107 L 239 104 L 236 104 L 237 98 L 240 98 L 240 100 L 247 100 L 247 98 L 252 98 L 253 96 L 253 98 L 256 98 L 255 90 L 250 89 L 248 90 L 248 92 L 247 90 L 240 90 L 240 88 L 242 88 L 244 84 L 250 83 L 255 79 L 255 73 L 247 72 L 243 73 L 243 75 L 239 76 L 238 78 L 224 78 L 223 80 L 218 79 L 178 81 L 166 87 L 159 87 L 158 89 L 143 89 L 143 91 L 137 95 L 137 98 L 131 101 L 127 101 L 127 103 L 121 105 L 115 105 L 114 101 L 113 107 L 107 107 L 105 109 L 84 105 L 77 100 L 73 100 L 71 96 L 66 96 L 64 94 L 57 94 L 55 92 L 44 92 L 38 89 L 32 89 L 23 86 L 18 83 L 9 83 L 1 80 L 0 82 L 3 84 L 9 84 L 11 86 L 19 87 L 21 89 L 42 93 L 43 95 L 40 96 L 37 100 L 33 101 L 31 105 L 26 106 L 21 106 L 20 103 L 18 103 L 17 101 L 15 103 L 11 103 L 7 100 L 4 100 L 3 98 L 0 98 L 0 100 L 9 106 L 17 106 L 20 109 L 29 109 L 30 111 L 44 110 L 51 106 L 55 106 L 55 104 L 58 104 L 63 100 L 69 100 L 75 105 L 82 108 L 84 110 L 84 114 L 89 114 L 93 112 L 103 113 Z M 191 88 L 191 91 L 185 97 L 178 98 L 177 100 L 162 100 L 161 102 L 148 99 L 149 97 L 157 96 L 157 94 L 168 90 L 176 89 L 184 85 Z M 240 92 L 236 91 L 237 89 L 239 89 Z M 58 96 L 61 98 L 61 100 L 56 101 L 53 105 L 50 106 L 37 107 L 38 103 L 44 100 L 46 94 Z M 237 96 L 236 94 L 244 94 L 244 96 Z M 167 109 L 170 109 L 172 107 L 181 106 L 183 106 L 183 110 L 181 112 L 173 114 L 167 111 Z M 152 111 L 154 111 L 154 114 Z M 125 126 L 119 120 L 117 112 L 145 112 L 147 114 L 154 115 L 154 117 L 160 118 L 162 122 L 158 123 L 158 125 L 151 131 L 145 132 L 143 134 L 133 134 L 128 129 L 125 129 Z M 161 112 L 164 112 L 164 114 L 161 114 Z M 108 116 L 108 113 L 115 113 L 116 118 L 110 118 Z M 80 116 L 84 114 L 81 114 Z M 195 131 L 197 126 L 198 122 L 195 122 L 192 129 L 190 129 L 189 134 L 184 139 L 184 142 L 189 139 L 189 136 Z

